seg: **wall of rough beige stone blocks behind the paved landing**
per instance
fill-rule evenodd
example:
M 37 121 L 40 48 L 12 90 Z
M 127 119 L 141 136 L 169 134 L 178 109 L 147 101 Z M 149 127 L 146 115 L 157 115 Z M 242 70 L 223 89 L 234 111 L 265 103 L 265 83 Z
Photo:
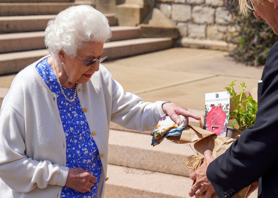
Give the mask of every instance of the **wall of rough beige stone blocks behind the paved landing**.
M 226 41 L 233 16 L 224 0 L 156 0 L 156 7 L 171 19 L 182 37 Z

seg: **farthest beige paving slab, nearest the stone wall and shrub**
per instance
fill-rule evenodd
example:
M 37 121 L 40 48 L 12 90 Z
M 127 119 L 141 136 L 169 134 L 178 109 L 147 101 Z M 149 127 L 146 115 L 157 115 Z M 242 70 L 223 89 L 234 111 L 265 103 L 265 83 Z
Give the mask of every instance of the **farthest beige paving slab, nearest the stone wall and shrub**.
M 215 75 L 229 74 L 250 78 L 260 78 L 263 70 L 263 67 L 251 67 L 235 62 L 233 58 L 228 56 L 228 52 L 185 47 L 171 48 L 160 52 L 124 58 L 112 64 L 166 71 L 194 71 Z

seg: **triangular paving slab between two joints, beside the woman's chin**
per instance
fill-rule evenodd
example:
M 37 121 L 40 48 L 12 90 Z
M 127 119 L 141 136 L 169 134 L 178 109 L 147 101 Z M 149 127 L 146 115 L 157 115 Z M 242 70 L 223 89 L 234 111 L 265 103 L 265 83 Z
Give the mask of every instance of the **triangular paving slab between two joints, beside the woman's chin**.
M 117 62 L 117 61 L 116 61 Z M 159 68 L 134 67 L 126 65 L 105 64 L 113 78 L 120 82 L 125 91 L 135 94 L 159 91 L 165 88 L 172 88 L 184 83 L 212 78 L 213 74 L 198 74 L 185 71 L 165 71 Z M 180 76 L 180 78 L 178 77 Z M 186 78 L 183 78 L 186 76 Z

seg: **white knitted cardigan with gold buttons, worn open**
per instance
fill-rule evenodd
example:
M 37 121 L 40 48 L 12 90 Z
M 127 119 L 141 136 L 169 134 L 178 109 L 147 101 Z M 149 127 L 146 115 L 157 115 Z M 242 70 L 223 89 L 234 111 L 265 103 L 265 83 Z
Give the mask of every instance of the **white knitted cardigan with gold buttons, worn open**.
M 60 198 L 65 185 L 66 139 L 58 112 L 56 95 L 36 70 L 41 58 L 20 71 L 4 98 L 0 114 L 0 197 Z M 129 129 L 144 131 L 165 116 L 161 105 L 144 102 L 126 93 L 100 65 L 91 80 L 79 84 L 81 107 L 101 157 L 103 171 L 97 197 L 103 197 L 107 173 L 110 121 Z

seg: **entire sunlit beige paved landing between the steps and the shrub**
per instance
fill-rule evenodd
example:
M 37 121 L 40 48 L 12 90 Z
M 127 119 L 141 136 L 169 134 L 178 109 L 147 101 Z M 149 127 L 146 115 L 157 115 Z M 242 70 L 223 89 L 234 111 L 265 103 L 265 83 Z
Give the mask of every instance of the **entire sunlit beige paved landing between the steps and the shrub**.
M 126 91 L 145 101 L 171 101 L 202 110 L 205 93 L 226 91 L 224 87 L 233 80 L 238 86 L 244 81 L 247 91 L 261 78 L 263 67 L 247 67 L 227 55 L 216 50 L 172 48 L 103 64 Z

